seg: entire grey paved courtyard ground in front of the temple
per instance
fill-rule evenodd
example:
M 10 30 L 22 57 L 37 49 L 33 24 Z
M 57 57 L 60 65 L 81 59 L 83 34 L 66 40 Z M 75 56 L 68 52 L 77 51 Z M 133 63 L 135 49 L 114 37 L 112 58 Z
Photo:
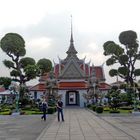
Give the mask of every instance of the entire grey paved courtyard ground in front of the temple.
M 0 140 L 140 140 L 140 116 L 100 117 L 80 108 L 64 109 L 64 116 L 0 116 Z

